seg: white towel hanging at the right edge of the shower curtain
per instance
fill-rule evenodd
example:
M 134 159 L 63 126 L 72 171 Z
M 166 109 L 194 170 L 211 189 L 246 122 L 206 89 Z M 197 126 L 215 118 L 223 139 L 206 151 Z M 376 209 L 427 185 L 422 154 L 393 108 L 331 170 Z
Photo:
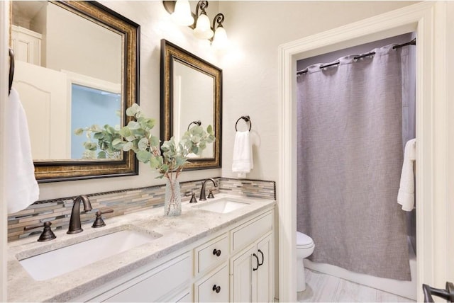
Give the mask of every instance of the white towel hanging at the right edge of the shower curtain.
M 404 164 L 400 176 L 400 188 L 397 202 L 402 205 L 402 210 L 411 212 L 414 208 L 414 173 L 413 161 L 416 160 L 416 139 L 411 139 L 405 144 Z

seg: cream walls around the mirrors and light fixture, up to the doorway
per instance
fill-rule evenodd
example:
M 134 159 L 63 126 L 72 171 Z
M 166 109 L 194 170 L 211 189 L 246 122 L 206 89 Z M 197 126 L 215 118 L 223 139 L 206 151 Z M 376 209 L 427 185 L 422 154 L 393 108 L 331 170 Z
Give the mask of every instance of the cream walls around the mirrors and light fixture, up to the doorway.
M 217 59 L 209 44 L 196 40 L 190 28 L 172 23 L 162 1 L 101 1 L 101 4 L 140 24 L 140 105 L 148 115 L 159 120 L 162 38 L 223 69 L 222 171 L 187 171 L 182 173 L 181 181 L 221 174 L 236 177 L 231 172 L 231 159 L 235 122 L 240 115 L 250 115 L 253 122 L 255 159 L 248 178 L 277 181 L 278 45 L 413 3 L 210 1 L 209 17 L 214 17 L 217 8 L 226 16 L 224 27 L 233 45 L 228 53 Z M 246 125 L 238 122 L 238 128 L 241 127 Z M 159 124 L 155 126 L 155 135 L 159 135 Z M 145 164 L 140 164 L 139 169 L 139 176 L 41 183 L 40 200 L 163 183 L 155 179 L 157 173 Z

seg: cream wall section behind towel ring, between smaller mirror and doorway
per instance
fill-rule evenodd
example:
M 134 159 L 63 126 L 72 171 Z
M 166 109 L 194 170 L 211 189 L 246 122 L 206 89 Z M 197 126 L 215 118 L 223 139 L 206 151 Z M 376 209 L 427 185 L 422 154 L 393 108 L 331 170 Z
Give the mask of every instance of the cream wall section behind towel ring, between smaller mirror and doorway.
M 221 1 L 236 45 L 223 67 L 222 176 L 231 171 L 235 122 L 253 122 L 254 168 L 248 178 L 277 181 L 278 49 L 285 42 L 414 4 L 411 1 Z M 240 125 L 240 122 L 238 122 Z

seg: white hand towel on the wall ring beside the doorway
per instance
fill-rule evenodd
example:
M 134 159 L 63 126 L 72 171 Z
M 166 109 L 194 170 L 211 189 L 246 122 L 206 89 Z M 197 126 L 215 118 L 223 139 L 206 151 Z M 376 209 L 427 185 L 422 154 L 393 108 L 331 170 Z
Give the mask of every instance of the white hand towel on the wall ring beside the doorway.
M 250 144 L 250 134 L 236 132 L 235 144 L 233 145 L 232 171 L 238 173 L 238 178 L 245 178 L 246 173 L 253 169 L 253 149 Z

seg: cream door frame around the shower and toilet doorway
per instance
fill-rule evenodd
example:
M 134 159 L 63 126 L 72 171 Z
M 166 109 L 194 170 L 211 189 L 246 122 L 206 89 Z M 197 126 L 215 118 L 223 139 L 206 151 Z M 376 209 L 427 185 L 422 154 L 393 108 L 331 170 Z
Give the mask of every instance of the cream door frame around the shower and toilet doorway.
M 448 277 L 446 3 L 425 1 L 279 46 L 279 301 L 296 302 L 297 60 L 416 32 L 417 285 Z M 436 102 L 435 102 L 436 101 Z M 435 203 L 436 201 L 436 203 Z M 443 250 L 444 248 L 444 250 Z M 444 283 L 444 282 L 443 282 Z M 443 284 L 442 284 L 443 285 Z M 421 287 L 418 302 L 423 301 Z

